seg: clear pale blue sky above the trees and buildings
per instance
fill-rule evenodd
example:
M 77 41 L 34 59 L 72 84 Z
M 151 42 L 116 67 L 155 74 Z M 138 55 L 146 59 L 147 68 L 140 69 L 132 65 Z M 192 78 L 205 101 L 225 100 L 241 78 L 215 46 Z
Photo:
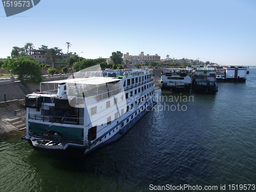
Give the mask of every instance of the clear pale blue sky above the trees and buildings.
M 68 1 L 41 0 L 6 17 L 0 5 L 0 58 L 33 42 L 83 52 L 84 58 L 114 51 L 189 58 L 221 65 L 256 65 L 256 1 Z

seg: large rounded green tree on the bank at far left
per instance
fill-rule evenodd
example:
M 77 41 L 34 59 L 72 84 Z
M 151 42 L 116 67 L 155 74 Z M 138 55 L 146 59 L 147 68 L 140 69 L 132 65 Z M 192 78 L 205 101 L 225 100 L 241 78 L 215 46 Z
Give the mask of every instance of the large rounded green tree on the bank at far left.
M 20 81 L 25 77 L 30 77 L 31 81 L 40 82 L 42 80 L 42 70 L 39 64 L 32 57 L 19 56 L 7 58 L 2 64 L 2 69 L 10 71 L 11 74 L 17 75 Z

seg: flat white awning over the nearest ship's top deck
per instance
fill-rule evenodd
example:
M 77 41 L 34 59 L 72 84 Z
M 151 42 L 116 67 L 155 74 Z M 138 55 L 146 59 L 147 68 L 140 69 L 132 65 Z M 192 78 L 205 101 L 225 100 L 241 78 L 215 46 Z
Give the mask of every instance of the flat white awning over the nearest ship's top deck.
M 114 77 L 90 77 L 90 78 L 74 78 L 74 79 L 63 79 L 56 81 L 47 81 L 42 83 L 78 83 L 78 84 L 103 84 L 109 82 L 120 81 L 120 79 Z

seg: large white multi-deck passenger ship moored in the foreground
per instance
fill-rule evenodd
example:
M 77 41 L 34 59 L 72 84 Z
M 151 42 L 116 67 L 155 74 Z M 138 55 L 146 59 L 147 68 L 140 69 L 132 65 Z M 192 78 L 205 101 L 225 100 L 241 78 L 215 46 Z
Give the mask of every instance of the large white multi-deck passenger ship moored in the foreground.
M 26 96 L 22 139 L 35 150 L 84 156 L 119 139 L 156 104 L 151 70 L 85 74 L 43 82 L 54 89 Z

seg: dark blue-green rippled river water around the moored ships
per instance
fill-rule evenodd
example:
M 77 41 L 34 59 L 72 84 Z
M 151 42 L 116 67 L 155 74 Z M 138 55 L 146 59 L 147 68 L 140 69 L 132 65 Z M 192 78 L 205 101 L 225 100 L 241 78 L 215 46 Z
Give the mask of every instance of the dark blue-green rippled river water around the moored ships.
M 255 185 L 256 68 L 246 83 L 218 87 L 215 95 L 156 90 L 153 111 L 84 158 L 34 151 L 28 143 L 0 151 L 0 191 L 152 191 L 161 185 L 230 191 L 232 184 L 231 191 L 241 191 L 240 184 Z M 0 149 L 23 142 L 22 135 L 0 141 Z

